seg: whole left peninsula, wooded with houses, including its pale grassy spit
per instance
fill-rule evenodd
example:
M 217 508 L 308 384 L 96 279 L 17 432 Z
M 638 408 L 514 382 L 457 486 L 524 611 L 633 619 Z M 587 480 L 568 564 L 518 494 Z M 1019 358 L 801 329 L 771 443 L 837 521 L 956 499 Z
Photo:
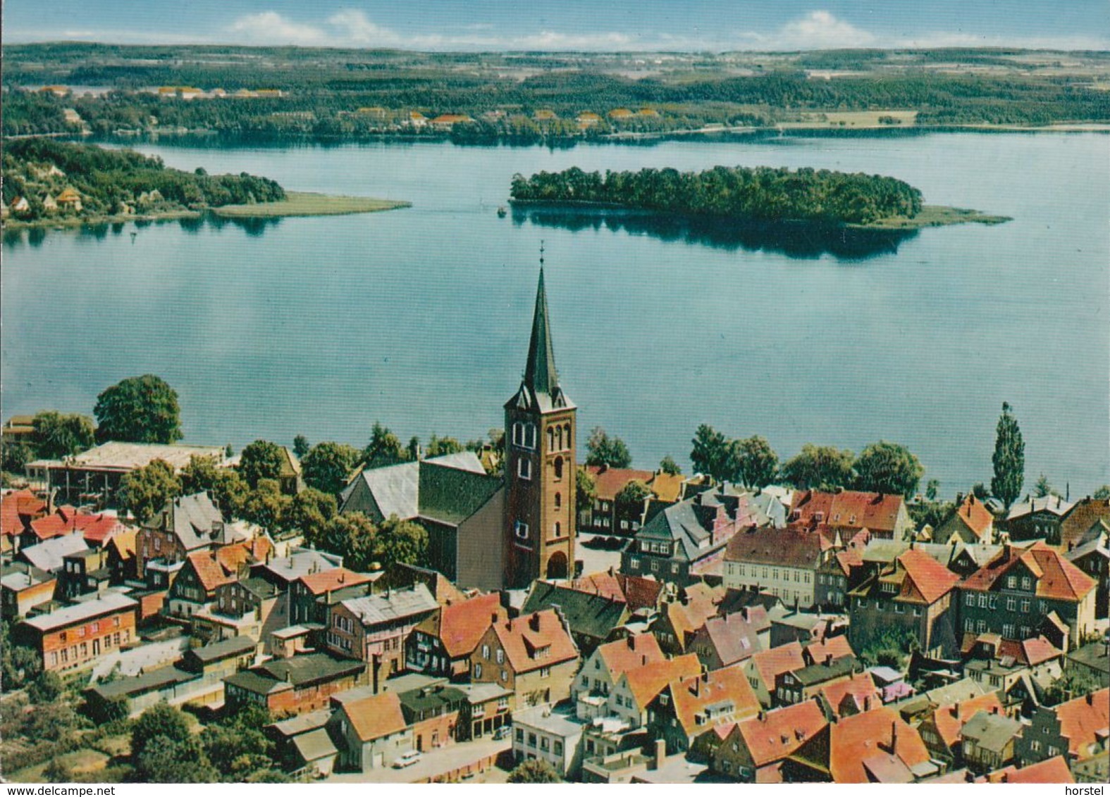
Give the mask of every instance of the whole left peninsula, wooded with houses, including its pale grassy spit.
M 56 139 L 9 142 L 3 153 L 6 224 L 84 224 L 128 218 L 367 213 L 407 203 L 286 192 L 245 172 L 170 168 L 159 157 Z

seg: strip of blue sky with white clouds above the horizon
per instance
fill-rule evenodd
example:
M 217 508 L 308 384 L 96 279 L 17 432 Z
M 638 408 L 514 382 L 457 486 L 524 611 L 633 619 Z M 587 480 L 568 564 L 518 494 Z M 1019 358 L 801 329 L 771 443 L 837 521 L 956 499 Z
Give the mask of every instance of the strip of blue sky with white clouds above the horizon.
M 1110 50 L 1107 0 L 7 0 L 6 42 L 415 50 Z

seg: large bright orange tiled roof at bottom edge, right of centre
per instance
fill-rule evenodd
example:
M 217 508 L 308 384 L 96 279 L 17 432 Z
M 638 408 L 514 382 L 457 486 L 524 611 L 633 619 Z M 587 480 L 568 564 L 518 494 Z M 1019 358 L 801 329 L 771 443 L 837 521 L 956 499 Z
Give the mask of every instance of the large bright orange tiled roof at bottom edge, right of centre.
M 925 764 L 929 750 L 898 712 L 881 706 L 834 723 L 829 729 L 828 756 L 834 783 L 862 784 L 872 781 L 880 767 Z

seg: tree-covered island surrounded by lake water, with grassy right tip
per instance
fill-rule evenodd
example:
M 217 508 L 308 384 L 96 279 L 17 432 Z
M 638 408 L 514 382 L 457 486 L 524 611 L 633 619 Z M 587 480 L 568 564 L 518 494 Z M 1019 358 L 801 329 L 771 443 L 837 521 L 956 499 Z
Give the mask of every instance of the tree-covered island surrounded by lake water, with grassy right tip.
M 513 176 L 515 204 L 629 208 L 744 221 L 811 222 L 864 227 L 917 227 L 1007 221 L 975 211 L 922 204 L 901 180 L 828 170 L 714 166 L 704 172 L 539 172 Z

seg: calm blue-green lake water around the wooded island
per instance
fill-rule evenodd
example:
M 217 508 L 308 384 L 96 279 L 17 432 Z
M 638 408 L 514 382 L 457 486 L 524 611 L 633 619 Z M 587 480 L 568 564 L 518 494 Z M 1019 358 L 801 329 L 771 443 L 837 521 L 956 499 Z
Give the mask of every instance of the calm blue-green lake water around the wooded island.
M 180 396 L 186 439 L 365 443 L 477 437 L 502 423 L 547 248 L 556 360 L 584 431 L 637 464 L 685 462 L 699 422 L 804 442 L 910 447 L 945 493 L 989 481 L 1013 405 L 1027 484 L 1110 481 L 1110 137 L 675 142 L 653 147 L 189 149 L 167 164 L 287 188 L 410 200 L 410 210 L 259 229 L 176 223 L 50 232 L 3 247 L 7 417 L 91 412 L 121 378 Z M 497 218 L 514 172 L 579 165 L 815 166 L 889 174 L 926 201 L 1012 216 L 922 231 L 867 259 L 665 239 L 642 227 Z M 672 236 L 674 237 L 674 236 Z M 584 438 L 581 442 L 584 442 Z

